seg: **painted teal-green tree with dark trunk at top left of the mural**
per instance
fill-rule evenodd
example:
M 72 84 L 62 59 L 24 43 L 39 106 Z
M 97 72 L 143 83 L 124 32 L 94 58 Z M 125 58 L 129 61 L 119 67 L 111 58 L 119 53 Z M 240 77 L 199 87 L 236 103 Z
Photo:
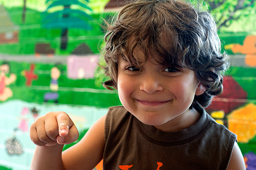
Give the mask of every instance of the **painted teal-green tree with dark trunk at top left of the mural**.
M 68 30 L 71 28 L 91 30 L 92 26 L 89 23 L 91 16 L 88 15 L 86 10 L 91 10 L 86 3 L 88 0 L 47 0 L 46 4 L 49 5 L 47 10 L 42 13 L 44 19 L 42 19 L 42 27 L 49 29 L 61 29 L 61 44 L 60 49 L 65 50 L 68 44 Z M 71 8 L 71 6 L 78 7 L 77 9 Z M 50 12 L 51 10 L 56 10 Z

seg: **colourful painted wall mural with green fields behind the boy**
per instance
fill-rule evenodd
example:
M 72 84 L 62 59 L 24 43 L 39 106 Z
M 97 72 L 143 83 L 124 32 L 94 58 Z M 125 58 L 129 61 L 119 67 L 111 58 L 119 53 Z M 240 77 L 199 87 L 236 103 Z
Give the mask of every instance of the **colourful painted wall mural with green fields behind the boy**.
M 121 105 L 116 91 L 102 87 L 97 62 L 102 18 L 111 20 L 125 2 L 0 0 L 0 170 L 29 169 L 35 148 L 29 127 L 38 116 L 69 113 L 79 141 L 108 107 Z M 247 169 L 256 169 L 256 2 L 191 2 L 215 15 L 230 57 L 223 93 L 207 112 L 238 135 Z M 102 162 L 94 169 L 102 169 Z

